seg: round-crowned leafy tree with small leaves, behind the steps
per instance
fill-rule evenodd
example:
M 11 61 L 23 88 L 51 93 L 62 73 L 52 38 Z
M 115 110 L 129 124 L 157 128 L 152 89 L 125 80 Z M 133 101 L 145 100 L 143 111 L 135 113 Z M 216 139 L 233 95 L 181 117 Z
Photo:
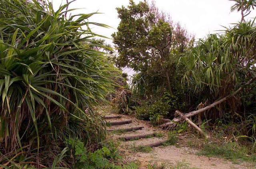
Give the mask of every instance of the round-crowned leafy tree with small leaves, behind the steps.
M 146 1 L 116 8 L 121 22 L 118 31 L 112 34 L 119 56 L 118 67 L 131 67 L 135 71 L 154 72 L 166 78 L 167 88 L 172 93 L 170 66 L 174 53 L 184 52 L 190 36 L 180 24 L 174 26 L 170 15 L 158 10 L 154 2 Z

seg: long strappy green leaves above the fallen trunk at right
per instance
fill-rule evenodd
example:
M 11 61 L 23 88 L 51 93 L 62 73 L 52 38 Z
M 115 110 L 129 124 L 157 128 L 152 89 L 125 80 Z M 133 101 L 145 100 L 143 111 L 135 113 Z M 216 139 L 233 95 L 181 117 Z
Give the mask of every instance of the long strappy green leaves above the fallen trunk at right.
M 195 48 L 182 58 L 187 72 L 183 82 L 196 81 L 196 88 L 207 86 L 217 95 L 229 94 L 238 85 L 239 71 L 255 64 L 254 22 L 240 22 L 226 28 L 225 34 L 200 39 Z M 223 91 L 226 92 L 223 92 Z

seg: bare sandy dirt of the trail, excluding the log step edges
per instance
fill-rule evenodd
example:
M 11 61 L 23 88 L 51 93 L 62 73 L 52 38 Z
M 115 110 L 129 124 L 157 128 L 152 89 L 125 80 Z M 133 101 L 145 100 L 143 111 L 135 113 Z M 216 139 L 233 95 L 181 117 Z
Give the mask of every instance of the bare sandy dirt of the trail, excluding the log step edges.
M 182 146 L 158 146 L 153 147 L 153 150 L 149 153 L 141 153 L 132 151 L 133 147 L 138 145 L 148 145 L 149 143 L 154 143 L 157 141 L 162 141 L 167 139 L 167 131 L 159 128 L 152 127 L 148 122 L 137 120 L 131 116 L 120 115 L 115 113 L 103 112 L 105 116 L 121 116 L 121 118 L 107 119 L 107 122 L 116 122 L 124 120 L 132 120 L 130 124 L 124 124 L 119 126 L 110 126 L 108 130 L 118 130 L 116 132 L 109 132 L 109 138 L 118 139 L 124 136 L 134 136 L 138 134 L 147 133 L 162 133 L 162 137 L 151 137 L 142 138 L 138 140 L 124 141 L 120 143 L 120 150 L 122 151 L 124 157 L 127 161 L 140 161 L 140 169 L 147 169 L 149 163 L 165 163 L 166 166 L 177 166 L 178 163 L 186 163 L 188 166 L 186 169 L 256 169 L 253 164 L 250 163 L 240 163 L 234 164 L 232 161 L 225 159 L 206 157 L 196 155 L 196 150 L 190 147 Z M 122 128 L 131 128 L 144 126 L 142 130 L 125 132 Z

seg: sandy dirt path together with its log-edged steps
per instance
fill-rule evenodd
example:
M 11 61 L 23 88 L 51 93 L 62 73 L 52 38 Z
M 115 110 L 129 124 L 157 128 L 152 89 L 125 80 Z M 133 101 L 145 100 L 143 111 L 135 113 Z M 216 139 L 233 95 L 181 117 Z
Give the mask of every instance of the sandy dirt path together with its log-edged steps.
M 114 112 L 102 112 L 102 115 L 105 115 L 104 118 L 108 124 L 108 137 L 119 140 L 118 149 L 124 155 L 124 160 L 128 162 L 138 160 L 140 162 L 139 169 L 147 169 L 148 164 L 152 163 L 156 163 L 160 167 L 163 163 L 176 167 L 177 163 L 177 167 L 180 167 L 179 161 L 185 161 L 186 164 L 198 169 L 254 169 L 251 166 L 255 165 L 250 163 L 238 165 L 219 158 L 210 159 L 209 157 L 198 156 L 195 154 L 195 149 L 190 149 L 185 145 L 183 148 L 172 145 L 161 147 L 166 141 L 170 141 L 166 130 L 154 128 L 148 122 L 137 120 L 132 116 L 115 114 Z M 159 134 L 162 135 L 159 136 Z M 153 151 L 150 151 L 151 149 L 148 147 L 154 147 Z M 249 167 L 244 167 L 244 165 Z

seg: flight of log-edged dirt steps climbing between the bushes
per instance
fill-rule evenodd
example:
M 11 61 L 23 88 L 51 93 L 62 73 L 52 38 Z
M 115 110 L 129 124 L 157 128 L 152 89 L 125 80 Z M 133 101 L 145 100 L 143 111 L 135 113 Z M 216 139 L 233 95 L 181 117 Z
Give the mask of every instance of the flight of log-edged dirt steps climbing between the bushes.
M 131 120 L 124 115 L 106 115 L 108 132 L 112 132 L 112 138 L 121 141 L 125 147 L 156 147 L 167 141 L 166 134 L 162 134 L 155 128 L 148 128 L 138 124 L 136 120 Z M 161 133 L 161 134 L 160 134 Z

